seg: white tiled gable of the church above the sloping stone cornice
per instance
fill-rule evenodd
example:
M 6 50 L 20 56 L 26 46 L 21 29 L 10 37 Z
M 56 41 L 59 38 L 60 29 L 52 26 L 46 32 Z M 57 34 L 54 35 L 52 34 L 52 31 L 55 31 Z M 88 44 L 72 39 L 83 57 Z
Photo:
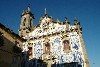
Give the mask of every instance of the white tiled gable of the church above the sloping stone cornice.
M 39 24 L 34 27 L 34 30 L 29 33 L 30 38 L 38 38 L 47 35 L 60 34 L 62 32 L 68 31 L 69 23 L 60 22 L 59 20 L 53 21 L 50 16 L 43 16 Z

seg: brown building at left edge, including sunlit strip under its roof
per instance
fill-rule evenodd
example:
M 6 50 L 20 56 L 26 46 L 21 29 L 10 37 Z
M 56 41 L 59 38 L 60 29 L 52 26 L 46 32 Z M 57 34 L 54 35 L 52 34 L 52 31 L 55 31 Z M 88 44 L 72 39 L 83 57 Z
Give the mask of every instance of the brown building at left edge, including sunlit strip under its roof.
M 15 33 L 4 25 L 0 24 L 0 67 L 19 67 L 20 66 L 20 54 L 13 52 L 13 47 L 20 47 L 22 41 L 15 36 Z M 19 65 L 19 66 L 18 66 Z

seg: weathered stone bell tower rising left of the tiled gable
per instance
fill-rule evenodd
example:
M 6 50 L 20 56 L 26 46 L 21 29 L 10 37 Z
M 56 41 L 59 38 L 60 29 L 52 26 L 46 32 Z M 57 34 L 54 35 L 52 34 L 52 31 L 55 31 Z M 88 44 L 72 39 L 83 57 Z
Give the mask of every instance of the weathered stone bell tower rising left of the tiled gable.
M 34 20 L 34 15 L 30 11 L 30 6 L 28 6 L 26 11 L 22 12 L 21 24 L 19 29 L 19 36 L 25 37 L 32 29 L 32 23 Z

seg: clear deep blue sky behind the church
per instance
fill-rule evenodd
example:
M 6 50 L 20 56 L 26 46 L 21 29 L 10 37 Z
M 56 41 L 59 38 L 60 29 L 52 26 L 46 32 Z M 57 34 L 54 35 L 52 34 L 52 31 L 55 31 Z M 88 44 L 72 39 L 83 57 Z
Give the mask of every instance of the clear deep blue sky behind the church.
M 83 39 L 90 67 L 100 67 L 100 0 L 0 0 L 0 23 L 18 34 L 21 13 L 30 4 L 34 25 L 44 15 L 44 9 L 54 20 L 77 17 L 83 29 Z

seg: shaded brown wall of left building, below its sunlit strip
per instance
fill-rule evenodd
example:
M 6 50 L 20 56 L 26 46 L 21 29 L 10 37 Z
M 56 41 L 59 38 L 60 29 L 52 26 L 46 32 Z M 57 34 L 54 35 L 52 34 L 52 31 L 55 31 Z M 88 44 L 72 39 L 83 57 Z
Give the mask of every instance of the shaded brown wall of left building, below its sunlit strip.
M 21 50 L 15 45 L 15 42 L 10 41 L 7 37 L 0 36 L 0 67 L 19 67 L 20 55 L 18 53 Z

